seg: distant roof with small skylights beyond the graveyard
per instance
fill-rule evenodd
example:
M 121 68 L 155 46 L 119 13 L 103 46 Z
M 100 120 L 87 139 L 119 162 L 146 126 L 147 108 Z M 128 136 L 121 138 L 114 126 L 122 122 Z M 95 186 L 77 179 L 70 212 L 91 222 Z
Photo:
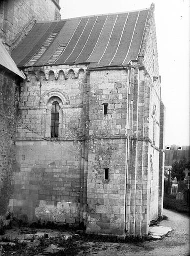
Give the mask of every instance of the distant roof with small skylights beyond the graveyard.
M 172 165 L 176 160 L 190 160 L 190 145 L 167 145 L 165 149 L 165 165 Z

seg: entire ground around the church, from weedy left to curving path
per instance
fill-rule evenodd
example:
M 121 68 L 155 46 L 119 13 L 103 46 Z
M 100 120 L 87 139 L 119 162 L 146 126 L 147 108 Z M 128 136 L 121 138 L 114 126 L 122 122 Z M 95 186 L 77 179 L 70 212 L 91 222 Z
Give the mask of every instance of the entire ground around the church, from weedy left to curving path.
M 73 232 L 56 232 L 50 229 L 40 229 L 40 231 L 48 233 L 47 237 L 31 238 L 33 234 L 20 234 L 19 229 L 6 230 L 3 237 L 10 237 L 14 240 L 17 239 L 30 239 L 29 243 L 24 242 L 20 245 L 2 245 L 2 256 L 15 255 L 86 255 L 86 256 L 188 256 L 190 255 L 190 217 L 182 213 L 177 213 L 171 210 L 164 209 L 164 215 L 168 216 L 168 220 L 162 220 L 161 225 L 170 226 L 173 231 L 168 233 L 164 238 L 157 240 L 136 240 L 130 242 L 107 242 L 100 241 L 96 237 L 90 237 L 84 234 L 75 234 L 69 238 L 69 234 Z M 37 230 L 37 229 L 36 229 Z M 37 230 L 39 231 L 39 230 Z M 30 229 L 31 232 L 31 229 Z M 40 233 L 35 233 L 34 235 Z M 28 238 L 27 238 L 28 236 Z M 56 238 L 58 236 L 58 238 Z M 1 236 L 2 237 L 2 236 Z M 63 238 L 64 237 L 64 238 Z M 106 239 L 104 239 L 106 240 Z M 52 245 L 55 244 L 55 245 Z M 51 245 L 50 250 L 54 253 L 48 252 L 47 246 Z M 24 248 L 22 248 L 22 246 Z M 57 247 L 63 247 L 64 250 L 56 252 Z M 46 248 L 46 252 L 44 251 Z M 53 248 L 51 250 L 51 248 Z M 40 254 L 41 253 L 41 254 Z

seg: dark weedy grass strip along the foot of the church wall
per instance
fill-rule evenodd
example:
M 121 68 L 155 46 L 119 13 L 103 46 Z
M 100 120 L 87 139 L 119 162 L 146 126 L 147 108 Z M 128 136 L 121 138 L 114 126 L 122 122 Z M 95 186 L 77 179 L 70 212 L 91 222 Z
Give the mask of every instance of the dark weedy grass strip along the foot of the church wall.
M 58 247 L 62 247 L 63 250 L 49 253 L 48 255 L 51 256 L 71 256 L 77 255 L 79 252 L 88 255 L 89 249 L 91 249 L 91 245 L 88 242 L 93 242 L 93 246 L 97 246 L 99 242 L 111 242 L 111 243 L 137 243 L 143 241 L 150 241 L 154 240 L 152 237 L 138 237 L 138 236 L 127 236 L 125 239 L 121 237 L 113 236 L 113 235 L 100 235 L 100 234 L 87 234 L 85 232 L 81 233 L 80 235 L 73 235 L 68 239 L 62 238 L 61 236 L 57 237 L 38 237 L 36 239 L 31 239 L 30 242 L 23 241 L 22 243 L 19 242 L 18 239 L 9 239 L 7 237 L 3 237 L 2 241 L 10 241 L 14 242 L 15 245 L 4 244 L 3 247 L 3 256 L 33 256 L 35 254 L 43 252 L 45 248 L 47 248 L 51 244 L 56 244 Z M 119 245 L 118 245 L 119 246 Z M 105 246 L 106 247 L 106 246 Z M 93 249 L 93 248 L 92 248 Z M 106 249 L 106 248 L 105 248 Z

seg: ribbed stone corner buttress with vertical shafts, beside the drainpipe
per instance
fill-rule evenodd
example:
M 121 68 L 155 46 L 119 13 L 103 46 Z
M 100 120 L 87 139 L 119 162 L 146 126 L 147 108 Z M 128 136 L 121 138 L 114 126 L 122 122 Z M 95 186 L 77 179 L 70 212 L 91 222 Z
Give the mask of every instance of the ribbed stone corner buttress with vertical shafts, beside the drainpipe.
M 144 68 L 131 68 L 130 148 L 127 181 L 126 230 L 130 234 L 147 233 L 148 208 L 148 155 L 149 90 Z

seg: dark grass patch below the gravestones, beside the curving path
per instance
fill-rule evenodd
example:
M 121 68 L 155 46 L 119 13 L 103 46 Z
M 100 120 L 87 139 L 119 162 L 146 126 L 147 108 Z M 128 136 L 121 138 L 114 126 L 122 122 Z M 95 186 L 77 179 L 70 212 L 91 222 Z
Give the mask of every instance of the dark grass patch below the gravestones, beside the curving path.
M 164 195 L 164 208 L 173 209 L 188 215 L 190 214 L 190 205 L 188 205 L 184 200 L 176 200 L 175 196 L 173 195 Z

